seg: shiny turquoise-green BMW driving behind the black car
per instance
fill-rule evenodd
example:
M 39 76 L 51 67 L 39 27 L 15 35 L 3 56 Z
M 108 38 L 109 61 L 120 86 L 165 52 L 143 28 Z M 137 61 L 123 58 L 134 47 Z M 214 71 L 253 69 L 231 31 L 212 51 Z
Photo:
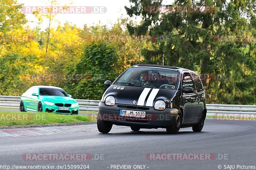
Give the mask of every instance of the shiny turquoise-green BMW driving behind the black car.
M 21 95 L 20 111 L 78 115 L 79 106 L 62 88 L 39 85 L 30 87 Z

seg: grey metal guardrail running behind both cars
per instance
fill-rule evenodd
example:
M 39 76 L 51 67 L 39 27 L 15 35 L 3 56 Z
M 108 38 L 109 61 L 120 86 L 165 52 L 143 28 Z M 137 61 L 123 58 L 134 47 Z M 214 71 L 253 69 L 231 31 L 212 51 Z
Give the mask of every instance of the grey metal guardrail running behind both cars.
M 98 111 L 100 100 L 82 100 L 75 99 L 79 103 L 81 111 Z M 20 96 L 0 96 L 0 108 L 20 107 Z M 216 114 L 256 114 L 256 105 L 222 105 L 222 104 L 206 104 L 207 115 Z

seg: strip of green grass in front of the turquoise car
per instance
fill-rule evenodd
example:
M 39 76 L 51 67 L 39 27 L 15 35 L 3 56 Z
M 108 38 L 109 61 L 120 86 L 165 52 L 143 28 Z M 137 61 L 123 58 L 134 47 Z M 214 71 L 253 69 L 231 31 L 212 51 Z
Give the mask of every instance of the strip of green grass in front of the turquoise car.
M 73 122 L 94 122 L 95 119 L 87 115 L 61 115 L 55 113 L 9 112 L 0 111 L 0 126 L 54 124 Z

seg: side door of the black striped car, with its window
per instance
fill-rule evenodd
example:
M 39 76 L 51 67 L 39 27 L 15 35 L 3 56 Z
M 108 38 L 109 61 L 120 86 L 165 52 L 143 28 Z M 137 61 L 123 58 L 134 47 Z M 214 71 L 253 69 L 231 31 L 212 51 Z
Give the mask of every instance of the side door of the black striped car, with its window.
M 194 92 L 189 94 L 185 93 L 182 90 L 185 87 L 192 87 Z M 189 72 L 184 72 L 182 75 L 181 96 L 184 104 L 183 123 L 194 122 L 198 112 L 198 96 L 196 94 L 194 82 Z

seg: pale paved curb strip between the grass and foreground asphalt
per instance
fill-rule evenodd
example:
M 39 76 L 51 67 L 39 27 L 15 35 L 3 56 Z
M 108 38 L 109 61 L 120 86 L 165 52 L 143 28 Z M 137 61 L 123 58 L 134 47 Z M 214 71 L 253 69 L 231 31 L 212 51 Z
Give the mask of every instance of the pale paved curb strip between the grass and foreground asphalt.
M 125 129 L 128 127 L 113 126 L 112 129 Z M 16 128 L 16 129 L 1 129 L 0 137 L 21 137 L 21 136 L 35 136 L 35 135 L 54 135 L 65 133 L 79 133 L 79 132 L 95 132 L 98 131 L 97 125 L 77 125 L 77 126 L 53 126 L 41 128 Z

